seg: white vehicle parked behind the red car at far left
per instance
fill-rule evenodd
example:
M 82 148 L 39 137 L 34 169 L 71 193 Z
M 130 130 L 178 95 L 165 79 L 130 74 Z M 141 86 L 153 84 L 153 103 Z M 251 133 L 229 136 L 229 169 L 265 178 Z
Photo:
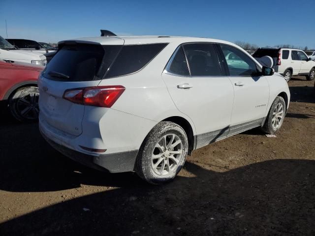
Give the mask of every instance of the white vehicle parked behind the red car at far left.
M 0 59 L 20 61 L 35 65 L 46 65 L 46 57 L 41 53 L 19 50 L 0 36 Z

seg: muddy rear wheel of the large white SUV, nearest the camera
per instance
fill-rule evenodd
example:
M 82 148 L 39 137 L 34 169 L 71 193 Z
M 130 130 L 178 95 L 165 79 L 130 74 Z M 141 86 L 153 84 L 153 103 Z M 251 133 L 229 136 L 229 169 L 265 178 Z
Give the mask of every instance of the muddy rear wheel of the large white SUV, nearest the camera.
M 147 135 L 136 160 L 136 173 L 149 183 L 172 180 L 182 169 L 188 154 L 184 129 L 170 121 L 159 122 Z

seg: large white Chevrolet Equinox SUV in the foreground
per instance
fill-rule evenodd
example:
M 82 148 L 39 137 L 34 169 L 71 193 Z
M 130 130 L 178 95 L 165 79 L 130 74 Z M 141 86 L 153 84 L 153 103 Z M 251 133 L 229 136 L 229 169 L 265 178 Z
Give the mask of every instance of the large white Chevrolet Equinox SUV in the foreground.
M 62 41 L 38 87 L 39 128 L 54 148 L 156 184 L 196 148 L 254 127 L 277 132 L 290 100 L 284 77 L 240 47 L 192 37 Z

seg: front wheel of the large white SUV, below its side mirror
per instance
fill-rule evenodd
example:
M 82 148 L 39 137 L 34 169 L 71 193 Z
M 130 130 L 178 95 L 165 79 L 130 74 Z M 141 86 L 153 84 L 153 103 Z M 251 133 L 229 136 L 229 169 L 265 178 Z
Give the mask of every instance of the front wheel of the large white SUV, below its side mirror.
M 275 134 L 282 126 L 285 117 L 285 101 L 283 97 L 277 96 L 271 105 L 262 131 L 267 134 Z

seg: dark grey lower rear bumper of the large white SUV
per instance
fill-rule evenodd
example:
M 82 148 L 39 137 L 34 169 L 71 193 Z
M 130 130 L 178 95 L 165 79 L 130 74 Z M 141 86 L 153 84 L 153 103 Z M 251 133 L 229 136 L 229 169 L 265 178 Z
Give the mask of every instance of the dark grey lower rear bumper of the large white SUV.
M 56 150 L 70 159 L 77 161 L 88 167 L 107 171 L 110 173 L 130 172 L 134 171 L 134 164 L 137 157 L 138 150 L 118 152 L 102 155 L 89 155 L 71 148 L 67 148 L 61 144 L 57 144 L 47 137 L 44 131 L 39 127 L 41 135 L 44 139 Z

